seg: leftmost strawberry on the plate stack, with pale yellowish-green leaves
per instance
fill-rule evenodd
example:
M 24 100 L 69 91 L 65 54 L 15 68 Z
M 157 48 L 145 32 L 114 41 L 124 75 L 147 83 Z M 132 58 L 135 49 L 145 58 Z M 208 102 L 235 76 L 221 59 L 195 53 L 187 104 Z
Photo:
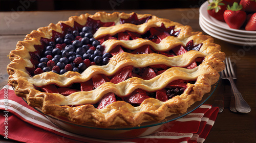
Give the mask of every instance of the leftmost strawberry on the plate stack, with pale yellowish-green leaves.
M 221 2 L 222 0 L 212 0 L 212 2 L 208 1 L 209 5 L 207 7 L 207 12 L 215 19 L 224 21 L 223 13 L 226 10 L 226 6 Z

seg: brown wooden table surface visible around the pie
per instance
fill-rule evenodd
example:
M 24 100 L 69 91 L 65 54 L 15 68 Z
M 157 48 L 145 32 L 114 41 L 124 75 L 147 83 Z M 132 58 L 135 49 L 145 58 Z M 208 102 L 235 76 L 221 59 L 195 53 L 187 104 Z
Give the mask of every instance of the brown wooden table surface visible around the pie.
M 199 26 L 199 9 L 163 9 L 163 10 L 123 10 L 119 12 L 136 12 L 139 14 L 150 13 L 161 18 L 190 25 L 194 31 L 202 31 Z M 15 49 L 18 40 L 23 40 L 26 34 L 39 27 L 48 26 L 50 22 L 57 23 L 59 20 L 67 20 L 72 15 L 84 13 L 94 14 L 96 10 L 88 11 L 49 11 L 49 12 L 0 12 L 0 87 L 7 84 L 8 74 L 6 66 L 10 62 L 8 54 Z M 114 12 L 114 11 L 106 11 Z M 204 33 L 206 34 L 206 33 Z M 247 114 L 232 113 L 229 111 L 231 96 L 230 84 L 227 81 L 220 82 L 217 91 L 206 101 L 212 104 L 219 90 L 224 94 L 225 109 L 218 114 L 214 127 L 211 129 L 205 142 L 256 142 L 255 132 L 255 93 L 256 93 L 256 45 L 238 46 L 215 38 L 220 44 L 222 51 L 227 57 L 236 62 L 236 84 L 244 99 L 251 107 Z M 10 142 L 4 140 L 0 141 Z

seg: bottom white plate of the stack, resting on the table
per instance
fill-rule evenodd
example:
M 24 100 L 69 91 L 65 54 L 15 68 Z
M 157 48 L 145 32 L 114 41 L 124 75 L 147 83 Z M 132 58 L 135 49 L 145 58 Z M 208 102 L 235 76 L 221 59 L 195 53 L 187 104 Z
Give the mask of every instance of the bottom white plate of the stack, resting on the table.
M 201 27 L 201 29 L 209 34 L 210 36 L 212 37 L 215 37 L 215 38 L 218 38 L 220 40 L 223 40 L 223 41 L 226 41 L 226 42 L 229 42 L 229 43 L 232 43 L 232 44 L 236 44 L 236 45 L 243 45 L 243 46 L 252 46 L 252 45 L 256 45 L 256 42 L 243 42 L 243 41 L 237 41 L 237 40 L 231 40 L 231 39 L 227 39 L 225 37 L 222 37 L 222 36 L 219 36 L 218 34 L 216 33 L 213 33 L 213 32 L 210 32 L 207 28 L 205 28 L 203 26 L 203 24 L 201 23 L 201 21 L 199 21 L 199 25 Z

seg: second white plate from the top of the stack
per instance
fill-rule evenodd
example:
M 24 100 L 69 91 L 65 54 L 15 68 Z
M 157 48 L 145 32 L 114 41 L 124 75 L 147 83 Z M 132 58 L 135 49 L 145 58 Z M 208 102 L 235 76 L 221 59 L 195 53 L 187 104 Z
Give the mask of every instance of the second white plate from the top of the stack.
M 239 33 L 234 33 L 232 31 L 228 31 L 225 29 L 221 29 L 216 27 L 215 25 L 212 25 L 211 23 L 207 22 L 202 15 L 199 15 L 199 19 L 202 21 L 202 23 L 204 24 L 204 26 L 207 26 L 211 29 L 212 32 L 219 32 L 219 33 L 223 33 L 226 35 L 230 35 L 230 36 L 236 36 L 236 37 L 241 37 L 241 38 L 253 38 L 256 40 L 256 34 L 255 35 L 248 35 L 248 34 L 239 34 Z

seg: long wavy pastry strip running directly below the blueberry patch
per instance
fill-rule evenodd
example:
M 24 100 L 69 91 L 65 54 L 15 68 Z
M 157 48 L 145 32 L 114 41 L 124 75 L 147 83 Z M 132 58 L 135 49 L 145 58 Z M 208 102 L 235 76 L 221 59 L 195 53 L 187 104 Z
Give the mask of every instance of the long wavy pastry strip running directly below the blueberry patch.
M 112 57 L 110 62 L 104 66 L 89 66 L 82 74 L 69 71 L 63 75 L 55 73 L 42 73 L 29 78 L 28 81 L 35 86 L 44 86 L 48 84 L 56 84 L 58 86 L 68 86 L 75 82 L 86 82 L 94 75 L 103 74 L 106 76 L 114 75 L 124 66 L 146 67 L 150 65 L 164 64 L 167 66 L 185 67 L 193 62 L 197 57 L 205 57 L 206 55 L 198 51 L 189 51 L 180 56 L 167 57 L 159 54 L 139 54 L 119 53 Z

